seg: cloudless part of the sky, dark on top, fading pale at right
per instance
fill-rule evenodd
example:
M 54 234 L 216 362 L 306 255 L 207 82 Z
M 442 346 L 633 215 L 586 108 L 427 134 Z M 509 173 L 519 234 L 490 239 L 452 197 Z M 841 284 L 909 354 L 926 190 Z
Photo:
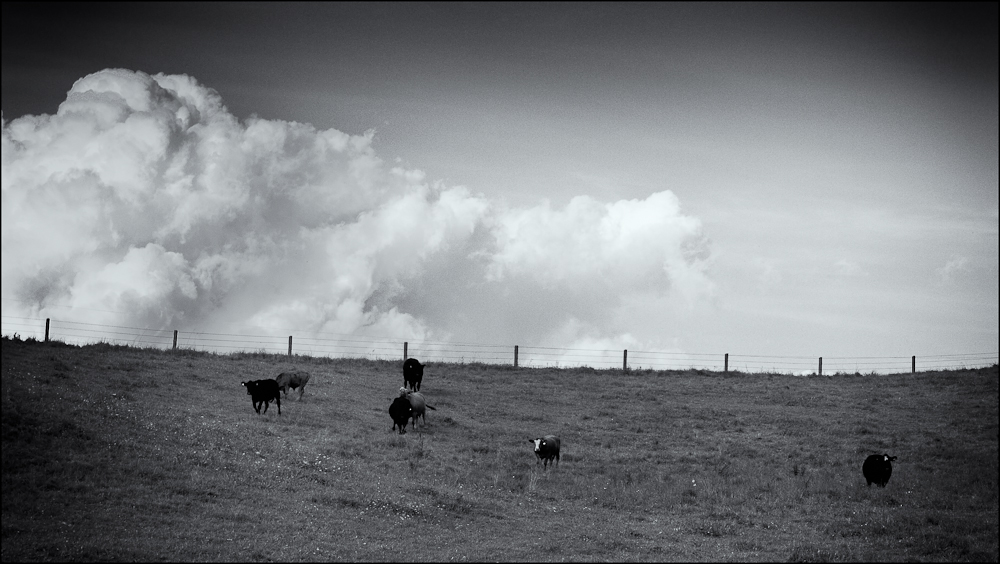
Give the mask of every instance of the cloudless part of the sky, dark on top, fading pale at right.
M 687 292 L 673 273 L 603 317 L 567 303 L 557 327 L 513 319 L 482 340 L 531 324 L 595 346 L 995 350 L 997 19 L 955 2 L 5 2 L 2 107 L 6 131 L 103 69 L 187 75 L 239 120 L 374 130 L 386 168 L 536 227 L 578 224 L 581 196 L 635 222 L 664 191 L 698 221 L 709 258 Z M 539 229 L 537 245 L 558 239 Z M 572 256 L 525 240 L 494 268 Z M 594 273 L 566 268 L 535 281 Z M 384 306 L 470 333 L 433 284 L 400 284 Z

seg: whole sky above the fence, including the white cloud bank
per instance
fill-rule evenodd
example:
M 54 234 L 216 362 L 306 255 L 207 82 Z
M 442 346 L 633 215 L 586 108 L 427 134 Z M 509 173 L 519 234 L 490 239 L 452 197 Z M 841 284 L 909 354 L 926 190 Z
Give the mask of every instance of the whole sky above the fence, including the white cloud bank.
M 4 2 L 3 316 L 995 352 L 997 19 Z

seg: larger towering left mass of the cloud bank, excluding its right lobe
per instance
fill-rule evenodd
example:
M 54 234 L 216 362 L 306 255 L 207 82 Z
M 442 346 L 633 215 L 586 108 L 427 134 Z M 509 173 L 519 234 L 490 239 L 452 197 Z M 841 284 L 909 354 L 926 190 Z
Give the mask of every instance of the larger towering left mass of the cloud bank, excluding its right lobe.
M 385 170 L 371 141 L 240 123 L 189 77 L 82 78 L 55 115 L 4 123 L 4 297 L 162 327 L 423 331 L 365 302 L 487 205 Z

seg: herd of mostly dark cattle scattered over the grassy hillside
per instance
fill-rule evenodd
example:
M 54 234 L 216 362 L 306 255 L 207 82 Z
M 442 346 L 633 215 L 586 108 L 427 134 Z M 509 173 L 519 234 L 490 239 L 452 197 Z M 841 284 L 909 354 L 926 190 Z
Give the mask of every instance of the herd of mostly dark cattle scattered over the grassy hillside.
M 406 433 L 406 425 L 412 424 L 417 428 L 417 420 L 423 418 L 423 424 L 427 425 L 427 410 L 437 410 L 429 405 L 423 394 L 420 393 L 420 382 L 424 379 L 424 365 L 415 358 L 408 358 L 403 362 L 403 386 L 399 388 L 399 396 L 392 400 L 389 405 L 389 417 L 392 418 L 392 430 L 399 429 L 399 434 Z M 309 382 L 309 373 L 301 370 L 293 372 L 282 372 L 277 378 L 265 380 L 252 380 L 241 382 L 246 387 L 247 395 L 253 403 L 254 410 L 260 413 L 261 405 L 264 406 L 264 413 L 274 401 L 278 406 L 278 415 L 281 415 L 281 394 L 288 397 L 288 389 L 299 390 L 299 400 L 305 393 L 306 384 Z M 536 439 L 529 439 L 535 445 L 535 456 L 542 467 L 548 469 L 550 463 L 559 463 L 559 437 L 555 435 L 545 435 Z M 553 459 L 555 462 L 552 462 Z M 885 487 L 892 476 L 892 461 L 895 456 L 888 454 L 873 454 L 865 459 L 861 466 L 861 472 L 868 482 L 868 487 L 875 484 Z

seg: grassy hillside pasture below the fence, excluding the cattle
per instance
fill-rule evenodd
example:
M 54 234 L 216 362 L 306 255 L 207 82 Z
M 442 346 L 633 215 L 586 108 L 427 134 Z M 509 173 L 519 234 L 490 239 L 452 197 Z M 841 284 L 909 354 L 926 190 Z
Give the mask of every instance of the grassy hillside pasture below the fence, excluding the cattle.
M 2 347 L 3 561 L 997 560 L 996 366 L 432 363 L 400 436 L 401 362 Z M 292 368 L 303 400 L 256 414 L 240 382 Z

